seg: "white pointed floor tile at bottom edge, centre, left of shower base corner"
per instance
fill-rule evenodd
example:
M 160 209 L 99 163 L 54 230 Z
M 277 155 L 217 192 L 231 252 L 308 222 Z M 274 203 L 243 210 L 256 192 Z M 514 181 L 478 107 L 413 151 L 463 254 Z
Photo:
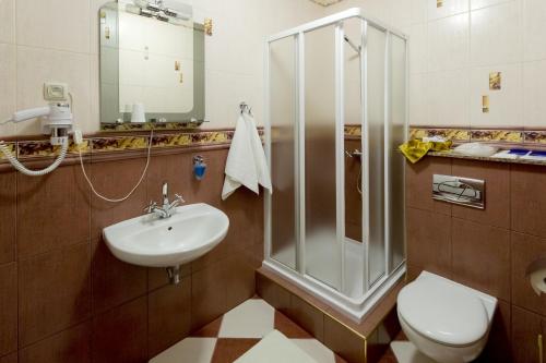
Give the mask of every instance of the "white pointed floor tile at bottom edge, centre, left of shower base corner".
M 271 331 L 235 363 L 319 363 L 278 330 Z

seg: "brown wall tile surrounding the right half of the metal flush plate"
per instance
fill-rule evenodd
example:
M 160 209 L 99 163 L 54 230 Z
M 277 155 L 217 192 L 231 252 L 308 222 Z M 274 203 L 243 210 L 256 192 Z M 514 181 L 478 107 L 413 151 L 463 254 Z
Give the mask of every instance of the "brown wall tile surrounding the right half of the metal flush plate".
M 453 160 L 452 174 L 485 181 L 485 209 L 453 205 L 453 217 L 510 228 L 510 167 L 501 162 Z

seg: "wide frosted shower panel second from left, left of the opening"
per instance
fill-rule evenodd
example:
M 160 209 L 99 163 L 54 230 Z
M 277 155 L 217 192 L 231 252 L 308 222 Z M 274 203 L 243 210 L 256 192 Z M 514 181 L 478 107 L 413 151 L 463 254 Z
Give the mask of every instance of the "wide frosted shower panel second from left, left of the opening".
M 336 241 L 335 208 L 334 27 L 306 33 L 305 44 L 305 266 L 306 274 L 340 289 L 341 250 Z

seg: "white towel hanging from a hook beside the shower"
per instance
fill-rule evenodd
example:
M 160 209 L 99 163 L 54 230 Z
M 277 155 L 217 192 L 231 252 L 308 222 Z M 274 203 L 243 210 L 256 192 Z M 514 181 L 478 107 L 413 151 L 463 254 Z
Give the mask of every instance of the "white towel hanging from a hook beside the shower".
M 253 118 L 240 114 L 232 140 L 232 147 L 227 155 L 226 179 L 222 190 L 222 199 L 225 201 L 239 186 L 245 185 L 256 194 L 260 194 L 259 185 L 272 192 L 262 141 L 256 128 Z

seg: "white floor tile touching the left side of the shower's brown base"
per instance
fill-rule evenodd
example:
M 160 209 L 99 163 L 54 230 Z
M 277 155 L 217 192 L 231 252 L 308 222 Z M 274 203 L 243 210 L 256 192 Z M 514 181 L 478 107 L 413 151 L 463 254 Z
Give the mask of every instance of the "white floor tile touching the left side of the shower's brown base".
M 250 299 L 227 312 L 219 338 L 263 338 L 274 328 L 275 310 L 265 301 Z

